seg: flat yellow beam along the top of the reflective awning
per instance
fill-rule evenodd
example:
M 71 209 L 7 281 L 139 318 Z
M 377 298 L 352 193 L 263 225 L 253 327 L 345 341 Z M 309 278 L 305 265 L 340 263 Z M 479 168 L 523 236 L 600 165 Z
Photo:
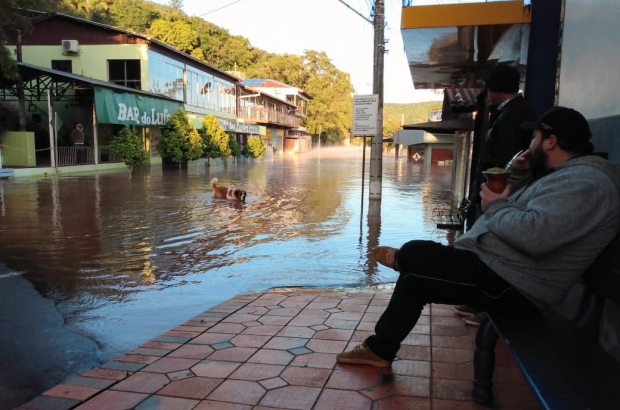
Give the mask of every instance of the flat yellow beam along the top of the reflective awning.
M 440 4 L 403 7 L 401 28 L 432 28 L 519 24 L 531 21 L 523 0 L 491 3 Z

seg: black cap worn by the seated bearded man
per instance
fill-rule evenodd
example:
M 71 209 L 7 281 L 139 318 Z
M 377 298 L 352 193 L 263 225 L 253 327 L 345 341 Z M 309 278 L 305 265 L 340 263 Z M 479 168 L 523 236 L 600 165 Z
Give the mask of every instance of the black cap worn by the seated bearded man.
M 590 144 L 592 138 L 590 125 L 585 117 L 579 111 L 566 107 L 552 107 L 538 121 L 524 122 L 521 128 L 541 130 L 574 144 Z

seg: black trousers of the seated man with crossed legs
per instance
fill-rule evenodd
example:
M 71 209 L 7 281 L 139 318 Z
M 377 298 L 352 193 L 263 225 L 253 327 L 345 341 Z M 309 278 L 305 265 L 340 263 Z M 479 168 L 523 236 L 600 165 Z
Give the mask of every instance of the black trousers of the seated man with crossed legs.
M 396 254 L 400 276 L 387 309 L 366 339 L 370 349 L 392 361 L 418 322 L 424 305 L 468 305 L 481 312 L 525 316 L 539 309 L 500 278 L 478 256 L 432 241 L 411 241 Z

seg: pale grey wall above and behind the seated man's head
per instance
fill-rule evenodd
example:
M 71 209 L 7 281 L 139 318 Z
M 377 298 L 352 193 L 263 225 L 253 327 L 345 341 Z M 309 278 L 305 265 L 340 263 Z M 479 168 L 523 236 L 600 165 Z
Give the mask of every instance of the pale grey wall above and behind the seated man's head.
M 558 105 L 589 121 L 597 151 L 620 161 L 620 63 L 617 0 L 565 0 Z

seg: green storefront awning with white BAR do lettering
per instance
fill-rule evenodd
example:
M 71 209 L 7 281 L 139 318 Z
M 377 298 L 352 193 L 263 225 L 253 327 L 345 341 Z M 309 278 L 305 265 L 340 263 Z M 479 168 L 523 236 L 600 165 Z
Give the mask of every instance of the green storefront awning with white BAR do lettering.
M 97 122 L 102 124 L 163 126 L 182 106 L 180 102 L 95 87 Z

